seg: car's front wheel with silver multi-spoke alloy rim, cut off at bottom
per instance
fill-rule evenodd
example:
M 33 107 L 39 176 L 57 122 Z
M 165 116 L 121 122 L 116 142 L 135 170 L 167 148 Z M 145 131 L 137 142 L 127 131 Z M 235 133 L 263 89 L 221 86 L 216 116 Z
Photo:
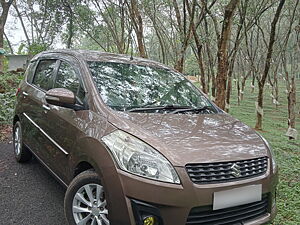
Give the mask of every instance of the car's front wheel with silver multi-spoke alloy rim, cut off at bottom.
M 84 219 L 87 222 L 83 224 L 109 225 L 106 205 L 104 188 L 98 174 L 87 170 L 76 176 L 66 191 L 65 217 L 69 225 L 78 225 Z

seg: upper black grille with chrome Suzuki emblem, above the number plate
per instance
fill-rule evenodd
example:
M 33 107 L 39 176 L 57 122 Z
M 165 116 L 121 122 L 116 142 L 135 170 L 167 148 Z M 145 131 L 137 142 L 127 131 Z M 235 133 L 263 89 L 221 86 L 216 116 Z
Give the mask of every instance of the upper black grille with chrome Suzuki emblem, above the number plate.
M 196 184 L 230 182 L 264 174 L 268 168 L 268 157 L 234 162 L 187 164 L 185 168 Z

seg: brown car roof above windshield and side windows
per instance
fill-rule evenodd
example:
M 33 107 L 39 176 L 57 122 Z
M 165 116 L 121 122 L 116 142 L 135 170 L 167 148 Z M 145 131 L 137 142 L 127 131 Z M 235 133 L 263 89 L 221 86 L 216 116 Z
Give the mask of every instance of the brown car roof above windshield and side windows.
M 33 60 L 38 59 L 42 56 L 47 56 L 48 54 L 65 54 L 73 56 L 79 60 L 83 61 L 99 61 L 99 62 L 115 62 L 115 63 L 124 63 L 124 64 L 136 64 L 136 65 L 145 65 L 152 67 L 159 67 L 168 70 L 174 70 L 164 64 L 159 62 L 140 58 L 140 57 L 131 57 L 130 55 L 125 54 L 116 54 L 108 53 L 94 50 L 77 50 L 77 49 L 56 49 L 44 51 L 36 55 Z

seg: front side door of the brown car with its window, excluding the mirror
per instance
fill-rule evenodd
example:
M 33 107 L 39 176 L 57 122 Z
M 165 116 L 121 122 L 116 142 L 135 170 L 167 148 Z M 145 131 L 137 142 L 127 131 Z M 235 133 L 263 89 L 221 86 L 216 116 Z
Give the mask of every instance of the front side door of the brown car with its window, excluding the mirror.
M 84 105 L 85 91 L 81 82 L 79 66 L 71 60 L 59 60 L 58 70 L 54 76 L 53 88 L 66 88 L 76 96 L 76 104 Z M 69 177 L 69 154 L 82 132 L 78 127 L 78 120 L 84 110 L 77 110 L 46 105 L 46 116 L 43 122 L 45 131 L 55 140 L 56 148 L 52 150 L 50 167 L 63 180 Z

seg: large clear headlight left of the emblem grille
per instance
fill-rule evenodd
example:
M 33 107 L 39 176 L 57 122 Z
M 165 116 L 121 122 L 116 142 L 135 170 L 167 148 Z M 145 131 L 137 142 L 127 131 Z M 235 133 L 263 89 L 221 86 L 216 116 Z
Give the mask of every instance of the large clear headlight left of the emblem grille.
M 180 184 L 171 163 L 143 141 L 121 130 L 104 136 L 102 140 L 122 170 L 158 181 Z

